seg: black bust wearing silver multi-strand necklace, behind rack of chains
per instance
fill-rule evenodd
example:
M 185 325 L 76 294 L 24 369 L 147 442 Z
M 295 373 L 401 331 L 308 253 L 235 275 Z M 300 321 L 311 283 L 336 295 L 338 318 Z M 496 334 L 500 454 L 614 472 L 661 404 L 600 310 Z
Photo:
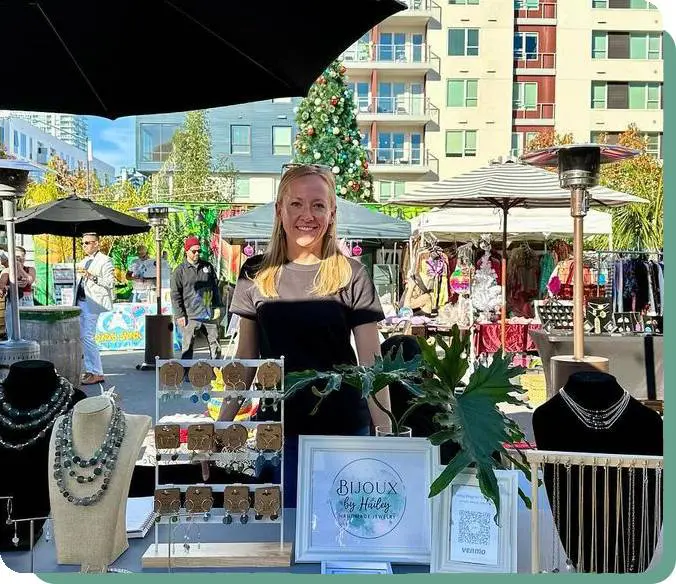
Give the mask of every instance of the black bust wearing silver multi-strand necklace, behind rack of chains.
M 533 413 L 533 433 L 538 450 L 663 454 L 662 418 L 638 400 L 627 397 L 625 389 L 612 375 L 601 371 L 574 373 L 562 389 L 563 395 L 557 393 Z M 640 470 L 632 473 L 625 469 L 618 479 L 617 471 L 613 469 L 608 475 L 610 486 L 606 493 L 606 475 L 601 467 L 588 467 L 580 480 L 577 467 L 567 470 L 558 465 L 558 474 L 562 478 L 557 481 L 554 466 L 545 466 L 544 483 L 550 503 L 558 500 L 561 542 L 566 542 L 571 534 L 569 561 L 578 570 L 588 572 L 593 571 L 591 558 L 609 557 L 611 571 L 637 571 L 633 556 L 638 554 L 629 551 L 630 547 L 632 550 L 638 547 L 637 543 L 633 544 L 639 541 L 642 533 L 636 518 L 645 517 L 651 528 L 661 523 L 661 517 L 655 516 L 656 499 L 662 498 L 661 493 L 656 495 L 655 473 L 651 471 L 646 475 L 644 491 Z M 621 497 L 617 496 L 618 492 Z M 557 493 L 556 497 L 554 493 Z M 599 523 L 592 540 L 594 507 L 597 522 L 601 521 L 604 512 L 608 513 L 608 529 L 601 528 L 603 524 Z M 616 525 L 621 527 L 616 529 Z M 595 549 L 592 541 L 595 541 Z M 650 559 L 653 550 L 646 549 L 644 553 Z

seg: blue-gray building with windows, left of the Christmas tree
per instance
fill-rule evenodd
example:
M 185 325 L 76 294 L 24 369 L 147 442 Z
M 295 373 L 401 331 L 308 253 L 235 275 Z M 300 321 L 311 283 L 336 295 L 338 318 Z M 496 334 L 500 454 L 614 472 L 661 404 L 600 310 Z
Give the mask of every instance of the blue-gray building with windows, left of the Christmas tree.
M 208 110 L 215 161 L 238 171 L 235 201 L 269 203 L 277 193 L 282 165 L 292 158 L 298 98 L 281 98 Z M 152 174 L 171 153 L 171 139 L 185 113 L 136 117 L 136 169 Z

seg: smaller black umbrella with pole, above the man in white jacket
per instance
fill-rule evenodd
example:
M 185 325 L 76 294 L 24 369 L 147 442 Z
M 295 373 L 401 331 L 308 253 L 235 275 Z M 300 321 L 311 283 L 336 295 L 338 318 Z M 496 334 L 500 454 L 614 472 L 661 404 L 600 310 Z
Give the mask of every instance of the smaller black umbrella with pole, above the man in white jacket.
M 91 199 L 70 196 L 30 207 L 17 213 L 16 232 L 25 235 L 61 235 L 73 238 L 75 278 L 76 238 L 85 233 L 134 235 L 150 230 L 145 221 L 104 207 Z

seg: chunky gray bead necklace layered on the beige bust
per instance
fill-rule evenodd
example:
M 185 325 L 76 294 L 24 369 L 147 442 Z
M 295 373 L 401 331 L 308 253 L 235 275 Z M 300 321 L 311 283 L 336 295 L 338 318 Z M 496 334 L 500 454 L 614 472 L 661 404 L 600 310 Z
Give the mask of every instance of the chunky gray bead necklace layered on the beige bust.
M 93 505 L 105 495 L 110 485 L 126 429 L 124 413 L 117 406 L 112 407 L 113 414 L 103 442 L 91 457 L 77 454 L 73 448 L 73 410 L 63 417 L 56 431 L 53 476 L 61 495 L 73 505 Z M 84 469 L 91 469 L 91 472 L 85 472 Z M 79 484 L 90 484 L 101 479 L 101 484 L 92 495 L 78 497 L 68 489 L 67 481 L 70 479 L 75 479 Z

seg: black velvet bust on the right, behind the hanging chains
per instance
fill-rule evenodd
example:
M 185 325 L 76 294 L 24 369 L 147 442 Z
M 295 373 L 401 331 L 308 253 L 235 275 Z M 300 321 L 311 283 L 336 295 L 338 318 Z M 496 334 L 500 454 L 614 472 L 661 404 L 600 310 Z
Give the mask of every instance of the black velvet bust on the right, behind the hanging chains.
M 619 385 L 615 377 L 602 372 L 574 373 L 568 379 L 563 388 L 574 402 L 588 410 L 604 410 L 617 404 L 624 395 L 624 389 Z M 626 409 L 617 420 L 608 428 L 589 428 L 575 415 L 570 405 L 567 404 L 560 393 L 557 393 L 546 403 L 538 407 L 533 413 L 533 433 L 539 450 L 551 450 L 556 452 L 590 452 L 599 454 L 637 454 L 656 455 L 663 454 L 662 418 L 657 412 L 644 406 L 634 398 L 629 398 Z M 551 464 L 545 465 L 545 487 L 550 503 L 554 499 L 554 473 Z M 608 497 L 608 509 L 610 513 L 609 528 L 604 526 L 604 481 L 605 470 L 596 468 L 596 492 L 592 491 L 591 467 L 587 467 L 583 476 L 582 493 L 580 492 L 579 472 L 577 468 L 571 468 L 570 493 L 567 492 L 567 471 L 562 465 L 558 465 L 559 488 L 558 501 L 560 509 L 559 535 L 566 548 L 567 534 L 570 531 L 570 548 L 567 549 L 568 557 L 579 571 L 592 571 L 589 564 L 592 557 L 592 501 L 596 500 L 596 558 L 598 566 L 603 565 L 604 546 L 607 545 L 608 567 L 610 571 L 624 572 L 636 571 L 636 563 L 632 563 L 629 549 L 622 549 L 621 543 L 615 549 L 615 525 L 617 513 L 617 471 L 609 470 L 610 493 Z M 625 533 L 630 530 L 630 511 L 636 518 L 636 529 L 639 529 L 639 519 L 643 512 L 647 513 L 648 524 L 652 530 L 655 519 L 655 472 L 648 472 L 648 500 L 647 509 L 643 509 L 641 493 L 643 488 L 642 470 L 635 472 L 633 480 L 633 500 L 629 499 L 631 482 L 627 469 L 622 471 L 622 514 L 621 520 Z M 583 522 L 579 522 L 580 501 L 583 501 Z M 567 525 L 568 508 L 570 501 L 570 526 Z M 633 509 L 632 509 L 633 508 Z M 661 519 L 660 519 L 661 521 Z M 579 561 L 580 535 L 583 539 L 582 560 Z M 622 536 L 622 532 L 620 533 Z M 622 537 L 620 537 L 622 539 Z M 638 534 L 636 534 L 638 541 Z M 652 543 L 652 540 L 651 540 Z M 648 551 L 652 557 L 652 547 Z M 638 551 L 636 551 L 638 555 Z M 615 569 L 615 558 L 618 558 L 618 568 Z M 627 568 L 625 569 L 625 564 Z

